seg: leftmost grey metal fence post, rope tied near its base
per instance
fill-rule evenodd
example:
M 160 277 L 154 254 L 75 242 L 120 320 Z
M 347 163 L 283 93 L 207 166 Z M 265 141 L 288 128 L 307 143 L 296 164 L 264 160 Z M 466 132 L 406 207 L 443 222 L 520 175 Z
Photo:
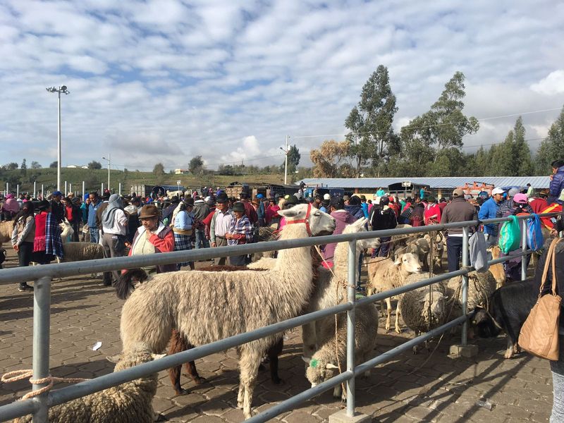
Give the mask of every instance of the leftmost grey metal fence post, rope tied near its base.
M 51 278 L 39 278 L 33 284 L 33 379 L 49 376 L 49 328 L 51 326 Z M 33 384 L 33 390 L 47 386 L 49 382 Z M 33 415 L 33 423 L 47 422 L 49 391 L 35 397 L 39 410 Z

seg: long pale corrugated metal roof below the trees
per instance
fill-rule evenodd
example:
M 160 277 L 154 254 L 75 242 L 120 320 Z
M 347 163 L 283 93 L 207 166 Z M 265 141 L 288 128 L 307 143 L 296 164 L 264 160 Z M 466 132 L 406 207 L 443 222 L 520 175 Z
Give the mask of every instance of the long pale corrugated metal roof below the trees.
M 426 185 L 430 188 L 456 188 L 465 183 L 489 183 L 496 187 L 525 187 L 530 183 L 533 188 L 548 188 L 548 176 L 460 176 L 452 178 L 306 178 L 304 183 L 310 186 L 319 185 L 328 188 L 369 189 L 386 188 L 395 183 L 409 180 L 414 185 Z M 298 182 L 299 183 L 299 182 Z

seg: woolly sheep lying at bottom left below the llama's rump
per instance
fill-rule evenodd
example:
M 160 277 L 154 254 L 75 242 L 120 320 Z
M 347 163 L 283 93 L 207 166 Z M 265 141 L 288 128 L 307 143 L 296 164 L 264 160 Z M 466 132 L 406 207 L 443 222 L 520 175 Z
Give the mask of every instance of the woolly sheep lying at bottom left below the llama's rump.
M 132 345 L 118 360 L 114 372 L 152 361 L 142 344 Z M 155 421 L 152 400 L 157 393 L 157 373 L 49 407 L 49 422 L 149 423 Z M 32 416 L 20 422 L 31 422 Z

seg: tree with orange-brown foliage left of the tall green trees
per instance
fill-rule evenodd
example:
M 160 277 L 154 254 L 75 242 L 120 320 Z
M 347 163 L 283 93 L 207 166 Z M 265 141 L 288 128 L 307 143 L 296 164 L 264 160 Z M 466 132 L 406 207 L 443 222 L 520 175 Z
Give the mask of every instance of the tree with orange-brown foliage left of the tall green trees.
M 355 173 L 348 162 L 350 143 L 348 141 L 324 141 L 319 149 L 309 153 L 314 164 L 314 178 L 352 178 Z

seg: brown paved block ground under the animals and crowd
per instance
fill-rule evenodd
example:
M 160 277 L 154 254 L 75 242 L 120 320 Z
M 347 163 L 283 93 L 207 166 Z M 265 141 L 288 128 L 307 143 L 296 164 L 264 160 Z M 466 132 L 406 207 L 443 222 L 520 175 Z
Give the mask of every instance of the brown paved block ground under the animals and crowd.
M 13 251 L 8 267 L 16 266 Z M 51 288 L 51 374 L 92 378 L 113 370 L 106 355 L 121 350 L 119 316 L 123 302 L 101 278 L 80 276 L 54 281 Z M 16 284 L 0 286 L 0 371 L 30 369 L 32 364 L 32 294 L 20 293 Z M 386 333 L 380 321 L 380 351 L 403 343 L 412 333 Z M 264 410 L 308 388 L 300 359 L 301 329 L 287 333 L 280 360 L 282 385 L 271 383 L 268 372 L 259 374 L 253 405 Z M 102 342 L 102 348 L 92 345 Z M 368 379 L 357 379 L 357 410 L 374 422 L 546 422 L 552 403 L 548 362 L 529 355 L 505 360 L 505 339 L 474 340 L 474 359 L 448 357 L 456 338 L 445 336 L 434 354 L 404 354 L 376 367 Z M 436 341 L 430 348 L 436 347 Z M 240 422 L 235 408 L 238 388 L 235 350 L 197 360 L 207 382 L 195 386 L 183 376 L 185 396 L 176 396 L 166 372 L 159 374 L 154 408 L 171 422 Z M 60 385 L 59 385 L 60 386 Z M 30 390 L 20 381 L 0 386 L 0 405 Z M 480 403 L 482 401 L 482 403 Z M 486 405 L 484 407 L 484 405 Z M 276 419 L 282 422 L 324 422 L 341 408 L 341 401 L 326 392 Z M 0 416 L 1 417 L 1 416 Z

